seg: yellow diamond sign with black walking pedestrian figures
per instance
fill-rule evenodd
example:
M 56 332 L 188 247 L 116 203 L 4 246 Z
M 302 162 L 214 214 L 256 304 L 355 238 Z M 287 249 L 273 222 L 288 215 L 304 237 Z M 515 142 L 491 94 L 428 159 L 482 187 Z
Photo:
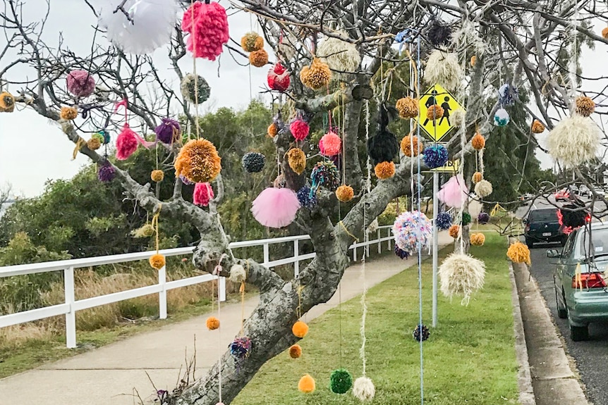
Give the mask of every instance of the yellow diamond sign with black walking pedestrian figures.
M 440 85 L 432 85 L 425 93 L 420 96 L 420 115 L 418 116 L 418 125 L 426 133 L 433 142 L 439 142 L 453 129 L 454 125 L 450 122 L 450 117 L 456 110 L 465 112 L 463 106 L 452 96 L 446 89 Z M 436 115 L 434 119 L 427 118 L 427 112 L 432 106 L 439 106 L 437 113 L 442 113 L 441 116 Z

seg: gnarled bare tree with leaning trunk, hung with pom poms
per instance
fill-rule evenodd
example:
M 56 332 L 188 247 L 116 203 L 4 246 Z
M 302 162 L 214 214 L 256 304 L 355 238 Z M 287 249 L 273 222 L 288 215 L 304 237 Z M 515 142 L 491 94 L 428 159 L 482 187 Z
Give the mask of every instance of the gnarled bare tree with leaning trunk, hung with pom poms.
M 0 70 L 0 77 L 14 87 L 21 87 L 16 96 L 18 104 L 28 106 L 59 124 L 67 137 L 78 145 L 80 153 L 89 156 L 93 162 L 104 164 L 104 156 L 82 146 L 79 135 L 83 133 L 82 125 L 76 127 L 71 121 L 61 120 L 58 112 L 61 106 L 75 102 L 63 89 L 66 74 L 74 68 L 86 67 L 95 74 L 99 83 L 103 83 L 95 96 L 100 100 L 99 104 L 106 108 L 94 110 L 87 121 L 89 127 L 100 127 L 104 120 L 109 120 L 111 125 L 119 125 L 110 119 L 108 110 L 111 108 L 110 101 L 125 98 L 130 100 L 128 111 L 140 120 L 144 133 L 147 128 L 154 128 L 161 118 L 169 116 L 175 111 L 174 108 L 179 108 L 191 129 L 196 127 L 192 108 L 178 96 L 169 82 L 159 77 L 154 61 L 149 56 L 128 56 L 114 46 L 99 44 L 93 46 L 92 54 L 86 57 L 75 55 L 61 45 L 56 49 L 51 48 L 41 37 L 44 25 L 25 22 L 23 15 L 20 15 L 19 0 L 7 0 L 7 4 L 5 11 L 1 12 L 6 37 L 9 39 L 6 49 L 13 47 L 21 52 L 15 61 L 3 61 L 2 64 L 6 67 Z M 121 5 L 125 4 L 126 1 L 121 2 Z M 94 7 L 91 8 L 95 10 Z M 461 94 L 456 94 L 463 96 L 462 99 L 466 96 L 467 106 L 466 125 L 461 125 L 458 135 L 452 137 L 447 144 L 451 156 L 456 157 L 464 157 L 472 150 L 469 141 L 475 134 L 475 127 L 485 137 L 492 134 L 492 117 L 499 104 L 494 103 L 492 108 L 487 108 L 487 101 L 494 97 L 496 72 L 503 68 L 508 70 L 505 82 L 526 89 L 539 112 L 533 113 L 517 98 L 515 102 L 551 129 L 559 119 L 558 113 L 563 116 L 566 109 L 573 111 L 571 96 L 575 94 L 577 77 L 580 77 L 576 68 L 566 69 L 574 80 L 561 74 L 564 66 L 560 61 L 564 61 L 564 52 L 570 52 L 568 32 L 576 30 L 590 40 L 608 42 L 592 32 L 586 23 L 589 17 L 606 19 L 602 14 L 605 6 L 600 1 L 501 0 L 489 7 L 486 1 L 477 0 L 320 3 L 241 0 L 236 8 L 255 13 L 267 44 L 291 72 L 289 91 L 284 96 L 277 96 L 277 99 L 286 97 L 288 106 L 299 111 L 305 118 L 322 116 L 324 111 L 341 108 L 345 182 L 355 188 L 358 197 L 339 224 L 329 220 L 336 199 L 327 190 L 320 189 L 317 193 L 319 204 L 316 208 L 300 209 L 296 224 L 302 232 L 311 236 L 317 257 L 300 272 L 298 278 L 282 280 L 259 263 L 236 258 L 229 251 L 229 235 L 226 235 L 217 217 L 218 206 L 224 197 L 224 179 L 221 176 L 214 183 L 217 197 L 207 210 L 193 206 L 183 197 L 181 180 L 176 182 L 168 199 L 161 199 L 154 194 L 149 184 L 135 181 L 128 170 L 116 168 L 116 180 L 139 206 L 151 214 L 157 213 L 162 206 L 162 216 L 191 223 L 197 229 L 200 242 L 193 255 L 195 266 L 212 270 L 220 263 L 222 274 L 227 275 L 233 264 L 241 264 L 249 269 L 248 282 L 260 289 L 260 304 L 245 321 L 244 327 L 244 333 L 253 341 L 254 349 L 247 359 L 239 363 L 238 373 L 235 373 L 236 365 L 231 354 L 226 352 L 205 377 L 171 396 L 167 400 L 171 404 L 216 404 L 219 399 L 217 374 L 220 369 L 223 376 L 223 400 L 229 404 L 262 364 L 297 341 L 291 333 L 291 325 L 297 318 L 296 308 L 299 306 L 301 312 L 305 313 L 313 306 L 327 301 L 336 292 L 348 264 L 346 252 L 353 237 L 362 238 L 363 230 L 384 211 L 389 201 L 408 194 L 409 158 L 401 156 L 394 176 L 376 182 L 371 192 L 365 192 L 367 169 L 365 165 L 362 166 L 359 158 L 360 151 L 365 147 L 365 139 L 361 139 L 359 127 L 367 121 L 369 101 L 375 97 L 380 104 L 389 96 L 387 89 L 390 87 L 390 72 L 393 70 L 384 70 L 384 66 L 396 68 L 411 63 L 408 57 L 399 56 L 399 51 L 393 46 L 397 34 L 411 28 L 411 37 L 403 42 L 403 48 L 408 49 L 414 59 L 425 60 L 427 54 L 434 49 L 430 39 L 437 43 L 444 42 L 438 36 L 445 32 L 445 25 L 450 25 L 456 31 L 455 39 L 445 42 L 458 54 L 462 65 L 466 65 L 470 56 L 476 56 L 475 67 L 468 70 L 466 87 L 462 86 L 459 89 Z M 125 8 L 118 7 L 115 12 L 132 17 Z M 442 26 L 437 28 L 437 24 Z M 407 35 L 406 32 L 405 35 L 399 35 L 399 38 Z M 311 54 L 318 49 L 317 44 L 326 39 L 339 39 L 342 43 L 353 44 L 359 57 L 363 58 L 363 63 L 353 70 L 334 70 L 334 76 L 340 74 L 340 77 L 329 85 L 329 94 L 324 91 L 314 92 L 298 80 L 300 70 L 311 63 Z M 420 55 L 415 46 L 418 41 L 421 44 Z M 576 43 L 574 41 L 574 46 Z M 225 48 L 238 60 L 245 56 L 232 44 L 227 44 Z M 486 48 L 487 51 L 484 52 Z M 569 54 L 570 58 L 576 60 L 576 54 L 576 51 Z M 171 38 L 168 58 L 180 80 L 184 74 L 179 62 L 187 55 L 183 32 L 176 30 Z M 430 66 L 425 67 L 426 73 L 429 68 Z M 19 80 L 11 79 L 11 73 L 17 69 L 33 70 L 36 79 L 25 82 L 20 80 L 20 85 L 17 85 Z M 421 73 L 418 72 L 419 75 Z M 154 83 L 154 94 L 145 92 L 144 87 L 140 86 L 142 83 Z M 485 92 L 487 88 L 492 91 Z M 602 96 L 602 91 L 584 91 L 594 97 Z M 416 96 L 413 86 L 409 86 L 409 93 Z M 291 119 L 292 116 L 284 118 Z M 375 127 L 372 122 L 370 135 L 375 134 Z M 514 125 L 513 130 L 523 131 L 526 135 L 528 133 Z M 462 137 L 465 147 L 461 146 Z M 287 126 L 274 137 L 274 144 L 287 187 L 298 190 L 305 184 L 306 177 L 304 173 L 294 173 L 284 158 L 284 154 L 292 147 Z M 171 144 L 166 147 L 166 151 L 169 156 L 176 156 L 179 144 Z M 309 170 L 314 159 L 310 160 Z M 593 187 L 580 170 L 577 169 L 576 174 L 579 181 Z M 599 194 L 596 197 L 601 198 Z M 300 285 L 303 286 L 301 297 L 298 296 Z

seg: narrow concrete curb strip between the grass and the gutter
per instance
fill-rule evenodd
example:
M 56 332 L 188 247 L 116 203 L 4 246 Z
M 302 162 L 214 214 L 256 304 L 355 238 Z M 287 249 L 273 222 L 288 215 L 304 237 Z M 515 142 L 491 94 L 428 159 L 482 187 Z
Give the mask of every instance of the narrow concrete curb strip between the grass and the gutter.
M 515 333 L 515 353 L 517 357 L 517 385 L 519 387 L 519 402 L 521 405 L 536 405 L 534 389 L 532 387 L 532 374 L 528 361 L 528 346 L 525 343 L 519 294 L 513 273 L 513 263 L 509 261 L 509 278 L 511 279 L 511 301 L 513 302 L 513 332 Z

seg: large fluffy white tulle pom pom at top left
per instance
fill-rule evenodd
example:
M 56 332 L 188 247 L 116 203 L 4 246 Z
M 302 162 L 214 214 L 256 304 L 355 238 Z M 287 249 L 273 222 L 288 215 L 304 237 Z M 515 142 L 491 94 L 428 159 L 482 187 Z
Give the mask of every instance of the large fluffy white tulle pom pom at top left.
M 109 0 L 99 12 L 99 25 L 106 28 L 108 40 L 128 54 L 149 54 L 168 44 L 177 21 L 176 0 Z

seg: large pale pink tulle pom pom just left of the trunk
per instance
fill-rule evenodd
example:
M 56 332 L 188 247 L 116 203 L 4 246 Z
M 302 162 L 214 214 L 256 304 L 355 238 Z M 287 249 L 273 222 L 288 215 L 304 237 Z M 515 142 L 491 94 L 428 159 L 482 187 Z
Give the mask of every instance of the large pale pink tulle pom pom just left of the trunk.
M 293 190 L 288 188 L 264 189 L 251 206 L 257 222 L 270 228 L 283 228 L 296 219 L 300 201 Z

